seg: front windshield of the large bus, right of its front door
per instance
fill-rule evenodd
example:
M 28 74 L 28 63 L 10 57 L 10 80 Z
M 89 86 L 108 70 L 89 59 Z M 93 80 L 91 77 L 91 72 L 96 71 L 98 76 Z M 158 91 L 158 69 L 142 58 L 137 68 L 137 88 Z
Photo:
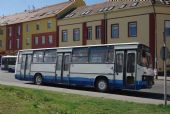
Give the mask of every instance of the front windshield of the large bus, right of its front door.
M 151 54 L 145 50 L 141 50 L 138 53 L 139 65 L 147 68 L 152 68 L 152 57 Z

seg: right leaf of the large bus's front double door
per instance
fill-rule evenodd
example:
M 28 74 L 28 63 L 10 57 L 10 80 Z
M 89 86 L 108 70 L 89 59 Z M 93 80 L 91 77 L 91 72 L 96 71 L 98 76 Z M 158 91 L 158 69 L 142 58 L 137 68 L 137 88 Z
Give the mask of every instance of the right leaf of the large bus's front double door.
M 126 58 L 126 88 L 134 89 L 136 80 L 136 51 L 127 51 Z

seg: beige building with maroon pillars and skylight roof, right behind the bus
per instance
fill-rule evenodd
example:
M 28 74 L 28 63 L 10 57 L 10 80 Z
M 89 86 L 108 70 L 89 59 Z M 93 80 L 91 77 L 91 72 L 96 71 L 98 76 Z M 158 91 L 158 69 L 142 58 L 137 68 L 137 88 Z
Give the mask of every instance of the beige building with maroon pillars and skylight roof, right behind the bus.
M 163 31 L 170 29 L 170 5 L 165 2 L 113 0 L 83 6 L 58 25 L 59 46 L 139 42 L 150 47 L 152 62 L 163 70 L 159 53 Z

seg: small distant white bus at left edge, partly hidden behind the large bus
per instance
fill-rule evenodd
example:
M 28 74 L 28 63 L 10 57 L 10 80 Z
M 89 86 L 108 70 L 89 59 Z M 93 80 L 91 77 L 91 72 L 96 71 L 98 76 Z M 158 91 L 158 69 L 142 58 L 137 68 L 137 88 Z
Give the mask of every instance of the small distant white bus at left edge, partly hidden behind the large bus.
M 17 56 L 14 56 L 14 55 L 2 56 L 1 57 L 1 70 L 15 72 L 16 58 Z

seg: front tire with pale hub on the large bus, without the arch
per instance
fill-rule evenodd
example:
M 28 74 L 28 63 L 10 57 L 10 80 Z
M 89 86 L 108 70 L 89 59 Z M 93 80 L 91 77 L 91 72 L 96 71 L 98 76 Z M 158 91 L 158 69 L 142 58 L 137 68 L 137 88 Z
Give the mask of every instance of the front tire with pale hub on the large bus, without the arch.
M 108 80 L 107 78 L 99 78 L 96 80 L 95 88 L 99 92 L 107 92 L 108 91 Z

